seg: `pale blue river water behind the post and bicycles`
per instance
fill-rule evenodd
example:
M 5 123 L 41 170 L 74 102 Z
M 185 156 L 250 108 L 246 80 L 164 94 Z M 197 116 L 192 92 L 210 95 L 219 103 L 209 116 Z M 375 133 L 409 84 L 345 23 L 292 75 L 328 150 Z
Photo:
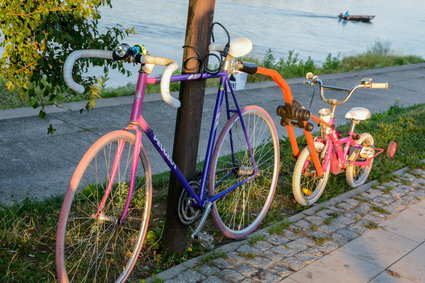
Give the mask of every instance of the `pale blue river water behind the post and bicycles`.
M 188 0 L 114 0 L 102 8 L 101 27 L 134 27 L 124 41 L 141 43 L 153 55 L 181 62 Z M 376 15 L 371 23 L 339 21 L 337 15 Z M 366 51 L 375 41 L 390 43 L 398 54 L 425 57 L 425 1 L 423 0 L 217 0 L 214 21 L 231 37 L 253 42 L 251 55 L 263 57 L 270 48 L 276 58 L 289 50 L 299 58 L 320 63 L 328 53 L 341 56 Z M 136 71 L 136 68 L 130 68 Z M 157 71 L 159 72 L 159 70 Z M 109 86 L 135 82 L 111 74 Z

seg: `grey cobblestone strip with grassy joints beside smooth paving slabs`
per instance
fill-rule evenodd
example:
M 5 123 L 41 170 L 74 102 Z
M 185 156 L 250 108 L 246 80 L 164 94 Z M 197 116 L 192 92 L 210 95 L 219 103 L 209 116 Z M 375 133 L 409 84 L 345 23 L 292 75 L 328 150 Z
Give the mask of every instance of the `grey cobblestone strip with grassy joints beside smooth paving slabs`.
M 147 281 L 298 282 L 289 276 L 423 199 L 425 170 L 405 168 Z

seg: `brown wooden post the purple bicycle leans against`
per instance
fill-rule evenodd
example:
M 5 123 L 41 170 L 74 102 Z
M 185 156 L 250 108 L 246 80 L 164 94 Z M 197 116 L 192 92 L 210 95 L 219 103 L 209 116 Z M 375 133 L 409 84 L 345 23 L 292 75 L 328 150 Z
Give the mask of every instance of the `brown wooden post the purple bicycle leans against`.
M 201 58 L 208 54 L 214 8 L 215 0 L 189 1 L 185 45 L 196 48 Z M 197 57 L 194 49 L 184 48 L 183 62 L 194 56 Z M 198 71 L 185 70 L 182 66 L 183 73 L 197 73 Z M 179 94 L 181 107 L 177 111 L 173 160 L 188 180 L 193 179 L 196 175 L 204 94 L 205 80 L 181 83 Z M 182 189 L 177 177 L 171 174 L 163 246 L 166 252 L 180 255 L 186 249 L 189 231 L 188 227 L 180 222 L 177 214 L 177 204 Z

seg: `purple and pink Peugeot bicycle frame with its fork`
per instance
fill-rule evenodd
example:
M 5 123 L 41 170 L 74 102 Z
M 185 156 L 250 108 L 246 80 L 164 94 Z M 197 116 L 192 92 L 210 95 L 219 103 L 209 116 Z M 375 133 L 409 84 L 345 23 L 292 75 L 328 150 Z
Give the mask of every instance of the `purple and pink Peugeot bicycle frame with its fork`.
M 187 179 L 183 176 L 180 169 L 177 167 L 175 162 L 172 160 L 171 156 L 164 149 L 161 142 L 155 136 L 155 133 L 153 132 L 153 130 L 149 127 L 148 123 L 145 121 L 145 119 L 141 115 L 143 99 L 144 99 L 144 96 L 145 96 L 146 84 L 158 84 L 158 83 L 161 82 L 161 77 L 148 77 L 147 73 L 143 73 L 143 72 L 139 73 L 139 78 L 138 78 L 137 87 L 136 87 L 136 94 L 134 96 L 133 108 L 132 108 L 132 113 L 131 113 L 131 116 L 130 116 L 130 127 L 128 127 L 128 129 L 132 129 L 132 130 L 136 131 L 136 143 L 134 145 L 134 152 L 139 153 L 140 147 L 142 146 L 141 142 L 137 142 L 137 141 L 141 141 L 141 139 L 142 139 L 142 133 L 141 133 L 139 127 L 135 126 L 135 125 L 139 125 L 140 128 L 142 129 L 142 131 L 146 134 L 148 139 L 151 141 L 151 143 L 153 144 L 155 149 L 161 155 L 162 159 L 164 159 L 165 163 L 168 165 L 171 172 L 177 176 L 180 183 L 183 185 L 183 188 L 194 199 L 194 201 L 195 201 L 194 205 L 198 208 L 203 208 L 206 202 L 212 203 L 214 201 L 217 201 L 218 199 L 220 199 L 221 197 L 223 197 L 224 195 L 226 195 L 230 191 L 236 189 L 237 187 L 241 186 L 242 184 L 253 179 L 255 177 L 256 173 L 258 173 L 258 167 L 257 167 L 257 164 L 254 160 L 251 143 L 249 141 L 248 134 L 247 134 L 247 131 L 246 131 L 246 128 L 245 128 L 245 123 L 242 119 L 242 112 L 241 112 L 241 109 L 240 109 L 240 107 L 237 103 L 237 99 L 236 99 L 236 96 L 234 94 L 234 91 L 233 91 L 233 89 L 232 89 L 232 87 L 229 83 L 229 76 L 228 76 L 227 71 L 221 71 L 217 74 L 174 75 L 174 76 L 171 77 L 171 81 L 177 82 L 177 81 L 188 81 L 188 80 L 197 80 L 197 79 L 210 79 L 210 78 L 218 78 L 218 77 L 220 78 L 220 85 L 219 85 L 219 91 L 217 93 L 217 99 L 216 99 L 216 104 L 215 104 L 215 109 L 214 109 L 211 129 L 210 129 L 210 135 L 209 135 L 207 150 L 206 150 L 206 154 L 205 154 L 204 168 L 203 168 L 203 171 L 202 171 L 202 177 L 201 177 L 201 183 L 200 183 L 200 194 L 199 195 L 194 191 L 194 189 L 189 184 Z M 231 95 L 232 95 L 236 109 L 230 108 L 229 97 L 228 97 L 229 95 L 228 95 L 227 89 L 230 89 L 230 92 L 231 92 Z M 227 188 L 226 190 L 224 190 L 224 191 L 222 191 L 222 192 L 220 192 L 220 193 L 218 193 L 218 194 L 207 199 L 206 198 L 206 184 L 207 184 L 207 178 L 208 178 L 208 171 L 210 169 L 210 162 L 211 162 L 212 153 L 213 153 L 213 149 L 214 149 L 214 141 L 215 141 L 215 138 L 216 138 L 216 135 L 217 135 L 218 121 L 219 121 L 219 118 L 220 118 L 220 112 L 221 112 L 220 110 L 221 110 L 221 106 L 223 104 L 223 98 L 226 99 L 227 119 L 229 119 L 231 117 L 231 113 L 238 113 L 239 117 L 241 118 L 240 121 L 241 121 L 242 129 L 243 129 L 243 132 L 244 132 L 244 135 L 245 135 L 245 139 L 246 139 L 247 144 L 248 144 L 248 149 L 250 151 L 251 160 L 253 162 L 254 173 L 253 173 L 252 176 L 247 177 L 247 179 L 245 179 L 245 180 L 231 186 L 230 188 Z M 233 153 L 232 141 L 231 141 L 231 150 L 232 150 L 232 153 Z M 125 219 L 125 216 L 127 215 L 128 207 L 130 205 L 130 200 L 131 200 L 131 196 L 132 196 L 132 192 L 133 192 L 133 189 L 134 189 L 134 186 L 132 184 L 134 184 L 134 180 L 136 178 L 136 168 L 137 168 L 137 162 L 138 162 L 138 158 L 137 158 L 138 154 L 133 154 L 133 157 L 134 158 L 132 160 L 132 171 L 131 171 L 131 177 L 130 177 L 130 190 L 128 192 L 128 197 L 127 197 L 127 201 L 126 201 L 126 204 L 125 204 L 125 207 L 124 207 L 124 210 L 123 210 L 123 215 L 122 215 L 121 221 L 123 219 Z

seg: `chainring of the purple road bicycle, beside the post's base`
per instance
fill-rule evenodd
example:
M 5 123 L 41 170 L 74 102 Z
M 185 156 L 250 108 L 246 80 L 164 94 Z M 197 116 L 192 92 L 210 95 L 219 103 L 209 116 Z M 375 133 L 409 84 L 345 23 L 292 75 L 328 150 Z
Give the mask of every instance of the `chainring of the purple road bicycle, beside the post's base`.
M 196 193 L 199 192 L 200 185 L 198 182 L 191 181 L 189 182 L 189 184 L 192 186 Z M 185 189 L 183 189 L 180 194 L 177 206 L 178 216 L 183 225 L 192 225 L 202 216 L 202 211 L 194 207 L 192 205 L 193 202 L 193 198 L 187 193 Z

